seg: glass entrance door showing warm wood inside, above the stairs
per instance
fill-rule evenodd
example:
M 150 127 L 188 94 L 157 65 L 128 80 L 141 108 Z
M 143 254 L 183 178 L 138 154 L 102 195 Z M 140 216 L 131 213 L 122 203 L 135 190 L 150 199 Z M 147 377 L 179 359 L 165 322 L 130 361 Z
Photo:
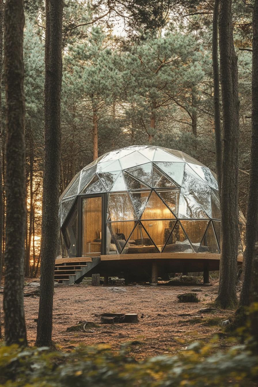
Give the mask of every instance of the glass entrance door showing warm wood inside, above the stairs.
M 82 257 L 101 254 L 102 197 L 82 198 Z

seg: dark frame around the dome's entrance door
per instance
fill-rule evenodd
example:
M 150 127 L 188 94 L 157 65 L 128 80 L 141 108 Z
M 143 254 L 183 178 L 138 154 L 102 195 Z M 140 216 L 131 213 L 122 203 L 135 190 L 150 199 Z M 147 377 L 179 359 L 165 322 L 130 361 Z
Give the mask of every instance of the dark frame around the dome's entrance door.
M 80 195 L 78 197 L 78 257 L 82 256 L 82 201 L 92 197 L 101 197 L 101 255 L 106 254 L 106 209 L 107 209 L 107 193 Z

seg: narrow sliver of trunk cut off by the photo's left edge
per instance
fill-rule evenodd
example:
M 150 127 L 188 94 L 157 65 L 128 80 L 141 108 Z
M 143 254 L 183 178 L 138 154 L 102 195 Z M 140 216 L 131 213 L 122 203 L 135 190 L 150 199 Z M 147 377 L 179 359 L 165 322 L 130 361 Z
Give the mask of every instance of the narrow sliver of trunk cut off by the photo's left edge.
M 0 284 L 3 272 L 3 128 L 2 128 L 2 72 L 3 72 L 3 0 L 0 0 Z M 0 305 L 0 339 L 2 339 Z

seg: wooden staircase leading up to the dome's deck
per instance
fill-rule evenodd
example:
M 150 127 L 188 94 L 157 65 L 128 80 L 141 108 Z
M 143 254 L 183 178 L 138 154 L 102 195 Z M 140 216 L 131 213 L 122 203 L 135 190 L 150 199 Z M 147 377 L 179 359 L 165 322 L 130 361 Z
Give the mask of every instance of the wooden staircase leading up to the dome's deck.
M 60 284 L 79 284 L 85 274 L 91 271 L 99 262 L 100 257 L 56 260 L 54 279 Z

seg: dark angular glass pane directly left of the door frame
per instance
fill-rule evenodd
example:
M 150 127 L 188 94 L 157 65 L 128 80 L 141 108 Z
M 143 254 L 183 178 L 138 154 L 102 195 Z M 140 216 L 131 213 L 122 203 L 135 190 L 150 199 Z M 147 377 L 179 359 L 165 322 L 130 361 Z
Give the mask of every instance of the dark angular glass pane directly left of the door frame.
M 72 215 L 63 229 L 63 239 L 69 257 L 77 257 L 77 238 L 78 238 L 78 204 L 75 203 Z

